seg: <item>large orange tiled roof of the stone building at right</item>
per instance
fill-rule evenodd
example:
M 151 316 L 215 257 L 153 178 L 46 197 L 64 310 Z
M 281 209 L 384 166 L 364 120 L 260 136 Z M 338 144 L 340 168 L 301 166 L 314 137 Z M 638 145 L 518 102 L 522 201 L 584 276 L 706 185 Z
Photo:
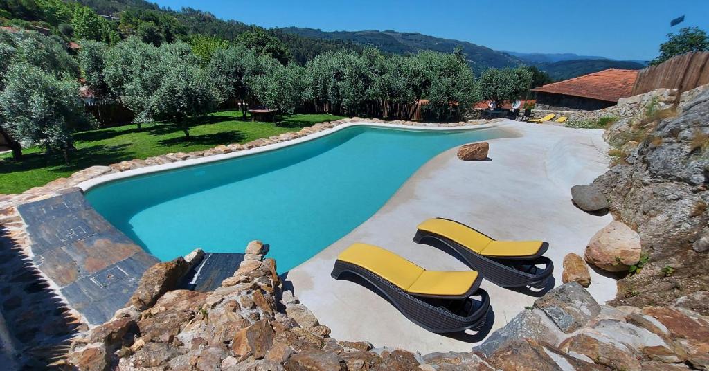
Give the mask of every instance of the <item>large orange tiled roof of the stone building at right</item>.
M 592 74 L 574 77 L 543 87 L 532 89 L 533 92 L 583 96 L 601 101 L 617 102 L 619 98 L 630 96 L 637 78 L 637 70 L 618 70 L 609 68 Z

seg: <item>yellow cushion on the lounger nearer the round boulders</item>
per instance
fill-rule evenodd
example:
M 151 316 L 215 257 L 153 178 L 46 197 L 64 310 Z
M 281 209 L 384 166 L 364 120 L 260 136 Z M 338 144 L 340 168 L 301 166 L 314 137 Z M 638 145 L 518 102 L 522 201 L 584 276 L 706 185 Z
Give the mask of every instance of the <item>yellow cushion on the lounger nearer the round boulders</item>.
M 465 226 L 442 218 L 432 218 L 418 225 L 420 231 L 435 233 L 475 253 L 491 258 L 520 258 L 536 255 L 542 241 L 498 241 Z

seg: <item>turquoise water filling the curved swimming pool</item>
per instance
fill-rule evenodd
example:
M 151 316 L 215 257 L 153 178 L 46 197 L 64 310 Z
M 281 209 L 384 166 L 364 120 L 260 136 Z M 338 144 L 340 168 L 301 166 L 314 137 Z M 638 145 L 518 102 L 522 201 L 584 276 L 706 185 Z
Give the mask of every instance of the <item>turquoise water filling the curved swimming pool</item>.
M 86 199 L 160 260 L 194 248 L 243 253 L 258 239 L 286 272 L 366 221 L 431 157 L 505 136 L 498 128 L 354 126 L 279 150 L 102 184 Z

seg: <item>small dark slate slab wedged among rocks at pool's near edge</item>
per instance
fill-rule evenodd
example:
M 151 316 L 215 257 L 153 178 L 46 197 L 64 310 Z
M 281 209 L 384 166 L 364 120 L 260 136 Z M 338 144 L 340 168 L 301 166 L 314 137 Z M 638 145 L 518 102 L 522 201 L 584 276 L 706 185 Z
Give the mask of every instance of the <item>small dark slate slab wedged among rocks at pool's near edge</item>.
M 244 254 L 206 253 L 199 264 L 192 267 L 182 280 L 182 288 L 208 292 L 221 286 L 221 282 L 234 275 L 244 260 Z

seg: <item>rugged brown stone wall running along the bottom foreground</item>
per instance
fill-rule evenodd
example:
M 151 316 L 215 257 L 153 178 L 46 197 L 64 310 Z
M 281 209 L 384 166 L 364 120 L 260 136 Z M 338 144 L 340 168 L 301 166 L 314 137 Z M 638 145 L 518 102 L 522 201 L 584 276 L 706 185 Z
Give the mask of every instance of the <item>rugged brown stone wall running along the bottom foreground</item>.
M 706 370 L 709 318 L 685 309 L 614 309 L 576 282 L 557 287 L 469 353 L 422 355 L 336 340 L 290 292 L 262 244 L 213 292 L 174 289 L 180 259 L 146 272 L 135 297 L 74 339 L 79 370 Z M 144 305 L 145 303 L 152 303 Z M 366 314 L 348 314 L 366 315 Z M 413 323 L 411 326 L 415 326 Z M 654 367 L 654 368 L 653 368 Z

